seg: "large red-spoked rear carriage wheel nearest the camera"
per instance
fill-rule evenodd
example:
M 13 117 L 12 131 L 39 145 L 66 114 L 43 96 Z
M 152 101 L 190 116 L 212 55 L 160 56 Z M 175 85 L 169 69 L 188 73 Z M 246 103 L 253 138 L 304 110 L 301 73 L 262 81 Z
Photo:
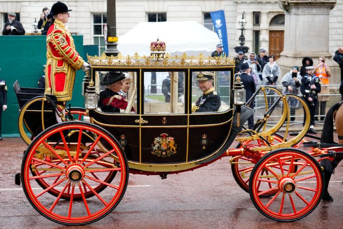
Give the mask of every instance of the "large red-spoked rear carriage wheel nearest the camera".
M 109 179 L 111 173 L 116 176 Z M 21 174 L 25 195 L 40 214 L 64 225 L 86 225 L 119 204 L 128 165 L 123 149 L 107 130 L 75 121 L 40 133 L 24 154 Z M 37 180 L 46 186 L 39 186 Z M 52 190 L 59 195 L 50 195 Z M 62 198 L 66 195 L 67 201 Z

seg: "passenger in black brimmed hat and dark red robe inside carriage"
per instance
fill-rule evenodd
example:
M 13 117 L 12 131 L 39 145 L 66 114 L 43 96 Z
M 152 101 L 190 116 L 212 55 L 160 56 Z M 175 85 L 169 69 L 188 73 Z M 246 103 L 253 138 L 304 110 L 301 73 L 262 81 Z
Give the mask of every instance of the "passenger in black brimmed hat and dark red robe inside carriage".
M 108 72 L 101 80 L 100 84 L 106 86 L 106 89 L 100 92 L 98 107 L 103 112 L 123 113 L 125 111 L 128 102 L 119 94 L 123 79 L 125 75 L 122 72 Z M 135 111 L 133 107 L 131 111 Z

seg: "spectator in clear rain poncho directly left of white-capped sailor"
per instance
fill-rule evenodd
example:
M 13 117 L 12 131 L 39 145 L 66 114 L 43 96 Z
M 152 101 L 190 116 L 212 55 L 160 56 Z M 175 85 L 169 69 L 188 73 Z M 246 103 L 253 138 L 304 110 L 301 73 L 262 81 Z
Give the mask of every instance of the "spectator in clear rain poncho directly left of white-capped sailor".
M 299 68 L 297 66 L 292 67 L 292 70 L 286 73 L 282 77 L 281 83 L 285 87 L 283 92 L 284 94 L 299 94 L 299 87 L 301 82 L 301 76 L 299 74 Z M 295 109 L 299 108 L 299 100 L 290 97 L 287 98 L 288 106 L 290 107 L 290 116 L 291 121 L 295 120 Z

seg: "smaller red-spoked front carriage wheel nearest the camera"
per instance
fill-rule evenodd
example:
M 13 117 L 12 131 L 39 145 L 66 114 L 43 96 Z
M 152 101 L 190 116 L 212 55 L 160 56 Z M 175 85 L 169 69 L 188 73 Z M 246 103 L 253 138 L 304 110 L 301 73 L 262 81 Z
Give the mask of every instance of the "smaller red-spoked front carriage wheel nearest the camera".
M 296 172 L 290 167 L 297 165 Z M 269 179 L 260 176 L 269 171 Z M 270 187 L 271 186 L 271 187 Z M 323 173 L 315 158 L 294 148 L 271 151 L 255 165 L 249 180 L 250 198 L 266 217 L 280 222 L 299 220 L 319 204 Z M 264 193 L 275 191 L 270 198 Z

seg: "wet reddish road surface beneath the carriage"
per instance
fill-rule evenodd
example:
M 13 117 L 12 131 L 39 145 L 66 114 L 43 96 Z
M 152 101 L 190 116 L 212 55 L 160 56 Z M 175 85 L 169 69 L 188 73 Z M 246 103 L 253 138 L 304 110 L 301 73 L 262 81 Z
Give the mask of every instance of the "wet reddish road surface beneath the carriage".
M 331 178 L 334 202 L 321 202 L 307 217 L 278 223 L 263 216 L 232 176 L 229 157 L 193 172 L 129 176 L 121 203 L 103 219 L 81 227 L 65 227 L 41 216 L 28 203 L 13 175 L 20 171 L 26 149 L 20 138 L 0 141 L 0 228 L 342 228 L 343 163 Z

